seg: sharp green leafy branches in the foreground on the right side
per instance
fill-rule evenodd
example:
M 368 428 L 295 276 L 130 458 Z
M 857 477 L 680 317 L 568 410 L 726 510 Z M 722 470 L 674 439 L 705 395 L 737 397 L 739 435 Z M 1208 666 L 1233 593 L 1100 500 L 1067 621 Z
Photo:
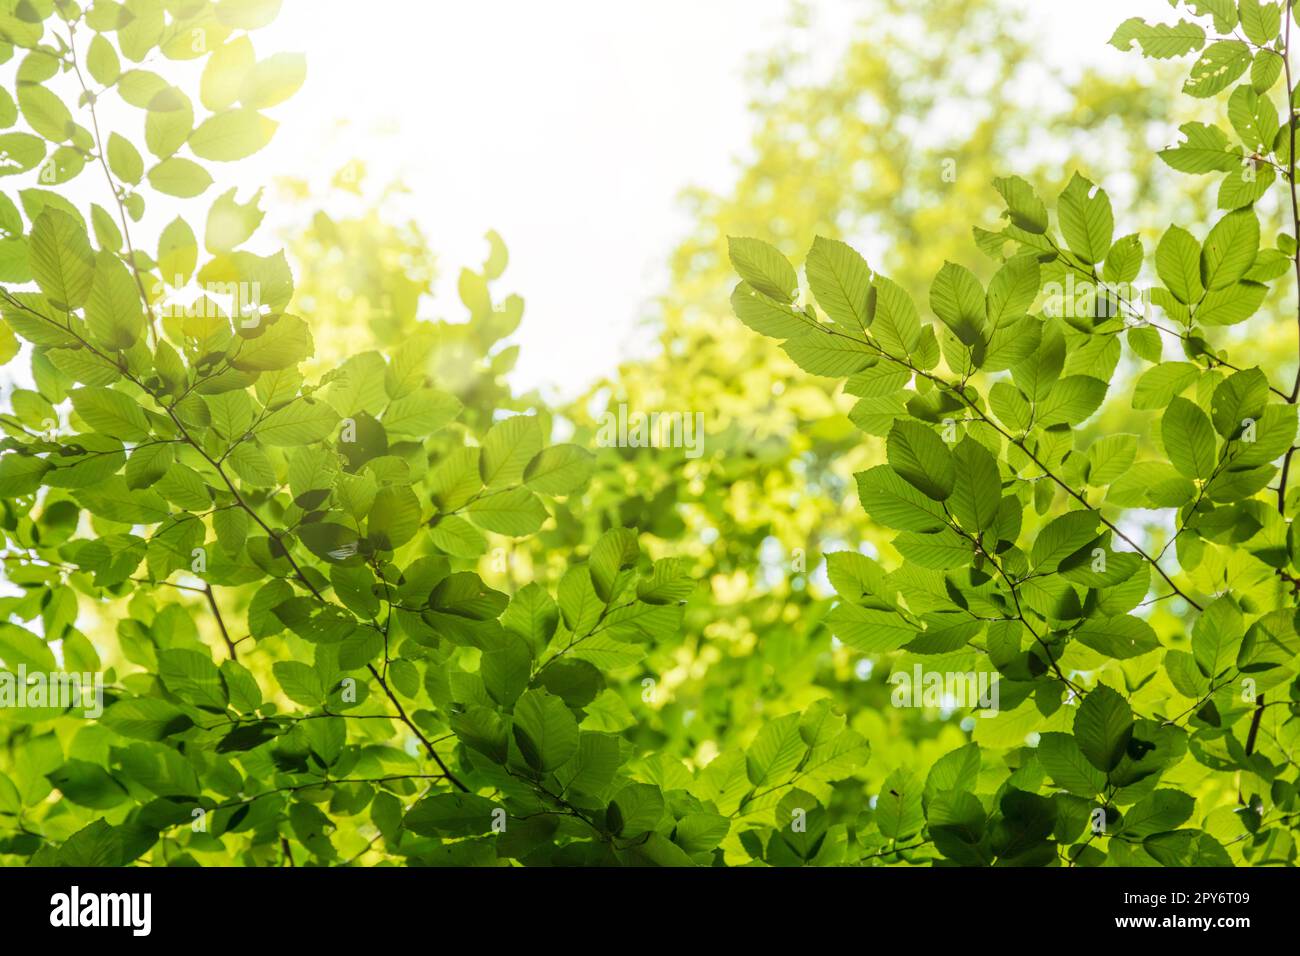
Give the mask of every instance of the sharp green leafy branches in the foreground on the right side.
M 1184 92 L 1227 100 L 1235 137 L 1190 124 L 1161 152 L 1222 174 L 1200 234 L 1170 225 L 1148 254 L 1115 234 L 1110 198 L 1080 173 L 1052 211 L 1002 177 L 1005 221 L 975 228 L 992 274 L 945 263 L 935 321 L 841 242 L 814 243 L 801 297 L 776 248 L 731 241 L 737 317 L 805 372 L 844 380 L 850 419 L 884 444 L 857 483 L 897 561 L 854 553 L 836 568 L 831 555 L 836 637 L 996 674 L 998 706 L 972 743 L 933 765 L 910 813 L 900 770 L 900 805 L 880 821 L 952 862 L 1228 865 L 1228 847 L 1294 860 L 1300 380 L 1235 364 L 1226 332 L 1300 268 L 1295 124 L 1274 103 L 1290 112 L 1296 96 L 1294 10 L 1216 5 L 1206 30 L 1208 7 L 1173 27 L 1128 21 L 1113 39 L 1152 57 L 1199 52 Z M 1290 198 L 1268 241 L 1273 189 Z M 1131 394 L 1113 388 L 1122 363 Z M 1106 402 L 1149 412 L 1124 416 L 1140 432 L 1082 441 Z M 1164 546 L 1135 531 L 1140 510 L 1170 515 Z M 1156 631 L 1156 605 L 1174 627 Z M 1283 710 L 1265 726 L 1270 708 Z M 949 770 L 966 762 L 970 775 Z M 1214 790 L 1196 800 L 1187 791 L 1205 788 L 1188 784 L 1204 778 Z

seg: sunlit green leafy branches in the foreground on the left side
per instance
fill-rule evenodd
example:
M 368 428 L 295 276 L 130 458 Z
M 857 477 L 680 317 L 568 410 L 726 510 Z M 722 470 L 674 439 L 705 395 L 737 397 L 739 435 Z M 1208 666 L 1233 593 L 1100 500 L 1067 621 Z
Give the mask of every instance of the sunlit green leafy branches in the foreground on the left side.
M 32 130 L 9 134 L 12 172 L 42 183 L 5 200 L 6 359 L 30 362 L 32 388 L 3 420 L 22 594 L 4 598 L 0 659 L 10 691 L 38 672 L 107 680 L 101 715 L 6 708 L 4 853 L 712 860 L 737 821 L 793 783 L 824 792 L 866 744 L 823 702 L 707 773 L 645 760 L 620 692 L 642 689 L 610 674 L 677 630 L 688 568 L 612 527 L 514 593 L 473 570 L 489 544 L 563 523 L 593 471 L 550 441 L 549 412 L 510 414 L 499 343 L 521 302 L 493 298 L 499 241 L 462 274 L 468 323 L 396 315 L 385 350 L 337 363 L 315 358 L 287 258 L 244 250 L 260 194 L 218 196 L 202 245 L 185 217 L 156 255 L 131 243 L 151 193 L 202 196 L 207 164 L 273 135 L 263 111 L 302 81 L 292 57 L 254 52 L 277 8 L 23 1 L 0 18 Z M 157 55 L 203 61 L 211 114 L 130 65 Z M 104 129 L 109 96 L 144 112 L 144 150 Z M 107 208 L 43 189 L 95 166 Z M 200 298 L 178 307 L 191 280 Z M 79 596 L 114 607 L 114 646 L 82 631 Z

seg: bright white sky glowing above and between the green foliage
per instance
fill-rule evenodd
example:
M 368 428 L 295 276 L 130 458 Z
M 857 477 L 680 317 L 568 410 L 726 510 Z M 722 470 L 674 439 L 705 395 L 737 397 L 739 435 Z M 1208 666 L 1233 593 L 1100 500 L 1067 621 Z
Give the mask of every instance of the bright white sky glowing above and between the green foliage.
M 1122 20 L 1176 16 L 1167 0 L 1022 1 L 1030 16 L 1020 23 L 1044 38 L 1045 59 L 1117 70 L 1136 60 L 1106 46 Z M 812 42 L 824 51 L 818 60 L 829 70 L 863 4 L 809 7 Z M 428 317 L 463 317 L 456 276 L 482 261 L 482 235 L 498 230 L 511 254 L 502 293 L 526 302 L 516 385 L 572 397 L 646 349 L 638 320 L 666 289 L 667 256 L 690 225 L 677 196 L 686 186 L 733 182 L 751 130 L 746 66 L 790 42 L 789 8 L 790 0 L 285 0 L 255 44 L 259 56 L 306 52 L 307 83 L 273 111 L 281 129 L 272 144 L 213 169 L 218 185 L 205 199 L 230 185 L 246 198 L 283 174 L 326 179 L 363 157 L 373 178 L 406 182 L 400 212 L 438 255 Z M 90 176 L 74 191 L 101 189 Z M 165 198 L 151 207 L 152 229 L 142 224 L 138 237 L 146 248 L 174 215 Z M 194 202 L 179 208 L 192 211 Z

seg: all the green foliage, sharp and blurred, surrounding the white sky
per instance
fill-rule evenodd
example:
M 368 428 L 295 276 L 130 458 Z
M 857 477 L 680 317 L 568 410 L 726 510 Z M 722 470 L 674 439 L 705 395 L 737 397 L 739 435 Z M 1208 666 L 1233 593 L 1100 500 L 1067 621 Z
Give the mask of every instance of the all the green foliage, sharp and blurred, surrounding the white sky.
M 0 860 L 1294 861 L 1296 395 L 1271 354 L 1227 351 L 1296 260 L 1294 235 L 1262 238 L 1291 208 L 1269 112 L 1294 96 L 1273 70 L 1290 17 L 1199 4 L 1193 26 L 1115 34 L 1204 51 L 1188 91 L 1227 101 L 1231 134 L 1184 126 L 1121 166 L 1222 179 L 1213 222 L 1154 235 L 1158 212 L 1043 166 L 997 179 L 996 208 L 967 174 L 913 189 L 909 164 L 983 172 L 1080 120 L 984 116 L 922 146 L 849 108 L 866 90 L 940 116 L 957 49 L 863 40 L 811 90 L 774 61 L 740 198 L 696 202 L 702 234 L 784 224 L 731 245 L 731 304 L 780 349 L 719 333 L 732 284 L 692 237 L 664 356 L 610 388 L 706 408 L 690 460 L 599 447 L 586 402 L 512 392 L 524 304 L 495 234 L 445 321 L 417 316 L 422 235 L 374 209 L 295 187 L 308 221 L 268 250 L 263 193 L 214 182 L 303 81 L 255 46 L 278 7 L 0 0 L 0 692 L 100 674 L 105 704 L 0 708 Z M 1031 51 L 982 12 L 924 17 L 1010 83 Z M 1238 29 L 1247 60 L 1213 90 Z M 1165 99 L 1131 92 L 1076 111 L 1154 104 L 1123 117 L 1138 140 Z M 788 143 L 816 114 L 841 146 L 806 160 Z M 862 163 L 870 189 L 816 174 Z M 783 204 L 829 233 L 811 295 L 766 241 L 810 226 Z M 897 281 L 832 238 L 841 207 L 907 243 Z M 936 226 L 985 207 L 1006 211 L 976 232 L 992 265 L 944 264 L 961 252 Z M 133 243 L 176 209 L 156 250 Z M 918 665 L 994 678 L 996 710 L 892 708 L 887 672 Z

